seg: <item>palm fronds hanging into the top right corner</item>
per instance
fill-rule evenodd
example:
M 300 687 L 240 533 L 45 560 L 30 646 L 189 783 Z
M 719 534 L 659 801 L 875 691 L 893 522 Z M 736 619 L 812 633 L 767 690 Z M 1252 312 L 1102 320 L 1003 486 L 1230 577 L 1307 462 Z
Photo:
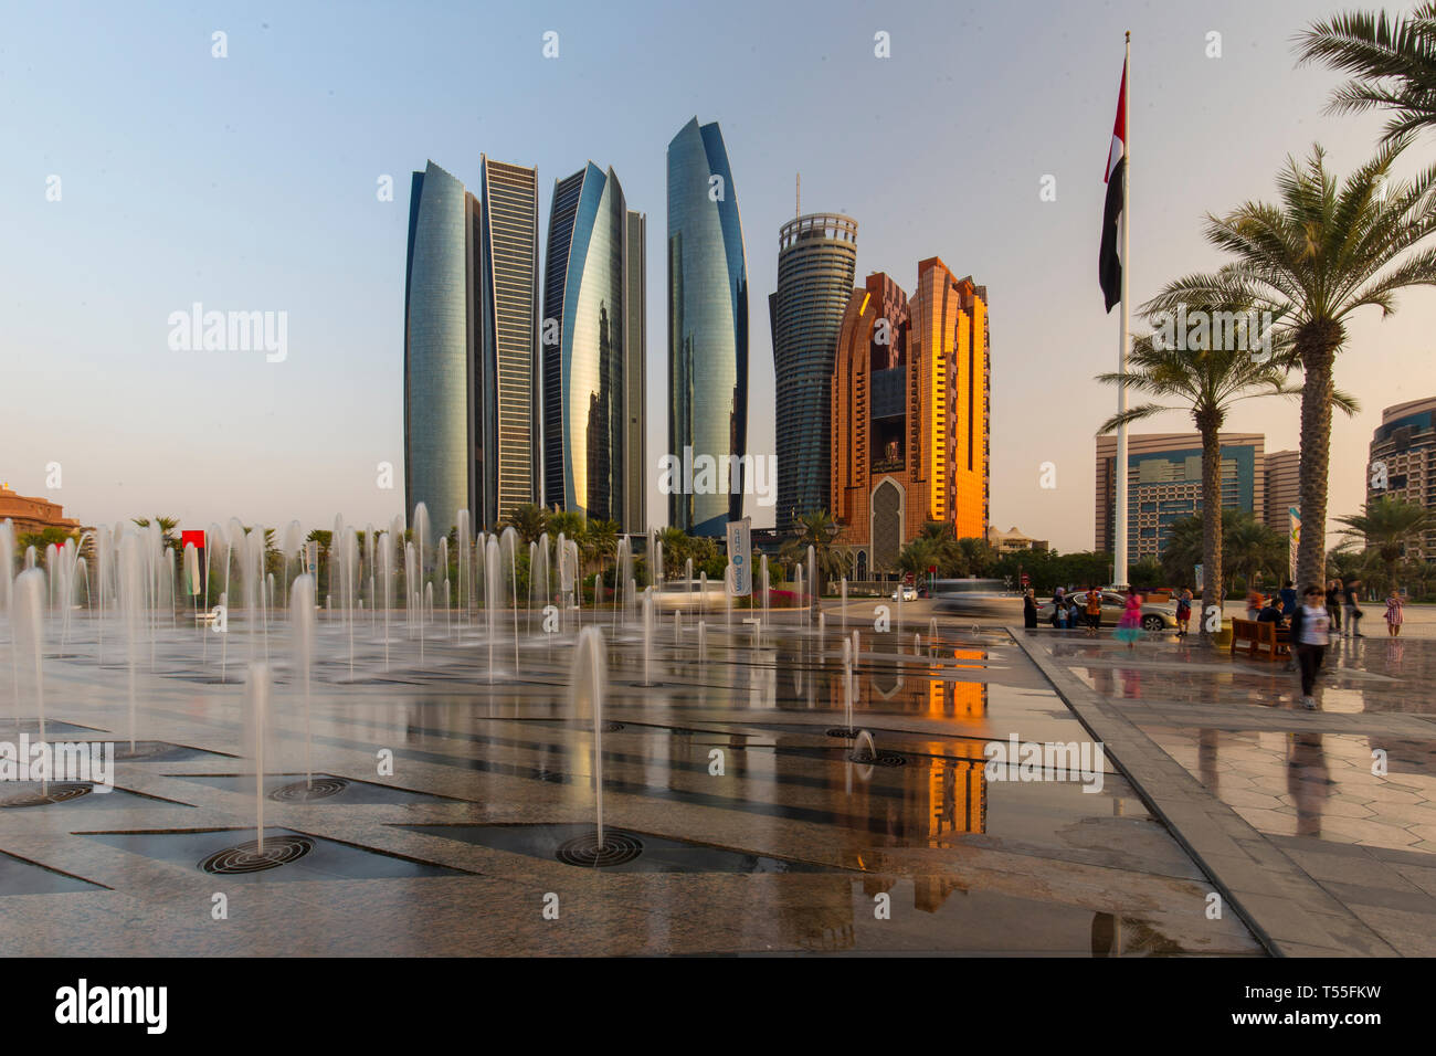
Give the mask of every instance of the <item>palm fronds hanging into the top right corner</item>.
M 1391 111 L 1386 142 L 1436 126 L 1436 3 L 1419 4 L 1404 19 L 1384 11 L 1337 14 L 1297 36 L 1298 59 L 1315 59 L 1351 79 L 1327 111 Z

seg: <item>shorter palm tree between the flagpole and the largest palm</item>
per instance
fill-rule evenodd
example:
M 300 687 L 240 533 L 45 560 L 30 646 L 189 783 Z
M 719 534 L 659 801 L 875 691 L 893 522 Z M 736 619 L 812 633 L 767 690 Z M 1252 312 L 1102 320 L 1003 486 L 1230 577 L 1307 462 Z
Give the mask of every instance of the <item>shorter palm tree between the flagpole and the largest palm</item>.
M 1175 295 L 1179 283 L 1173 283 L 1163 290 L 1143 312 L 1149 320 L 1157 323 L 1157 316 L 1176 312 L 1179 307 L 1186 312 L 1186 318 L 1211 319 L 1218 312 L 1244 315 L 1249 309 L 1249 302 L 1242 297 L 1228 297 L 1225 300 L 1198 300 L 1188 303 Z M 1175 299 L 1173 299 L 1175 297 Z M 1173 299 L 1172 303 L 1167 303 Z M 1137 338 L 1127 358 L 1126 374 L 1101 374 L 1099 381 L 1109 385 L 1122 385 L 1129 389 L 1144 392 L 1165 402 L 1140 404 L 1116 414 L 1101 424 L 1100 432 L 1111 432 L 1119 425 L 1143 421 L 1165 411 L 1183 409 L 1196 422 L 1196 431 L 1202 437 L 1202 598 L 1203 608 L 1206 599 L 1215 599 L 1218 608 L 1226 596 L 1225 580 L 1222 578 L 1222 425 L 1226 422 L 1234 404 L 1258 397 L 1294 395 L 1297 389 L 1287 385 L 1290 351 L 1287 332 L 1272 333 L 1272 348 L 1267 358 L 1258 359 L 1248 348 L 1226 348 L 1248 342 L 1229 341 L 1199 341 L 1200 345 L 1221 345 L 1222 348 L 1178 348 L 1188 342 L 1172 342 L 1159 339 L 1159 335 L 1144 335 Z M 1119 583 L 1120 586 L 1120 583 Z M 1203 642 L 1209 642 L 1211 634 L 1206 621 L 1198 621 Z

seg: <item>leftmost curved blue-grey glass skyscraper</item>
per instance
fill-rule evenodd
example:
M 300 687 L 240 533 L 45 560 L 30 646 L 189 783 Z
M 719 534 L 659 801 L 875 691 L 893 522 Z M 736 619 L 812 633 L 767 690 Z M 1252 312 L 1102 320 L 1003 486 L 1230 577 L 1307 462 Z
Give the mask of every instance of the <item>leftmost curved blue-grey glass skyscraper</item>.
M 447 530 L 474 509 L 478 203 L 432 161 L 409 190 L 404 283 L 404 506 Z

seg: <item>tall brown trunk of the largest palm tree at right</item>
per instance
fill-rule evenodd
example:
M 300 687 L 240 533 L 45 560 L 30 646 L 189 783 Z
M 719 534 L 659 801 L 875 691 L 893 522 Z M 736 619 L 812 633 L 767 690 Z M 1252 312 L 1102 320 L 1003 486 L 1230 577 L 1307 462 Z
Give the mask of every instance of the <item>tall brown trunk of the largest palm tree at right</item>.
M 1325 582 L 1327 471 L 1331 464 L 1331 363 L 1341 345 L 1341 326 L 1331 320 L 1307 323 L 1297 335 L 1301 382 L 1301 542 L 1297 546 L 1297 589 Z

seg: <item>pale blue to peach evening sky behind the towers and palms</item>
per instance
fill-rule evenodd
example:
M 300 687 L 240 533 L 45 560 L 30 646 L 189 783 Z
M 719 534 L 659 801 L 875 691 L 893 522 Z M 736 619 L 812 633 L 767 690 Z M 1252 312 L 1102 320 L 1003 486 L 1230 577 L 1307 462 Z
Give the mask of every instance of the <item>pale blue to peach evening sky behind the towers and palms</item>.
M 1367 6 L 1367 4 L 1357 4 Z M 1132 30 L 1132 299 L 1212 269 L 1202 217 L 1275 197 L 1288 154 L 1338 172 L 1379 116 L 1325 114 L 1340 78 L 1291 37 L 1340 4 L 1213 3 L 57 3 L 0 36 L 0 480 L 88 524 L 388 523 L 404 504 L 409 174 L 471 190 L 480 154 L 553 181 L 613 165 L 648 213 L 652 463 L 666 438 L 665 148 L 718 121 L 751 287 L 750 451 L 774 451 L 767 295 L 780 226 L 854 217 L 857 273 L 905 289 L 941 256 L 991 312 L 991 520 L 1094 543 L 1094 434 L 1117 359 L 1097 246 L 1123 30 Z M 227 56 L 214 57 L 214 33 Z M 557 33 L 559 56 L 544 57 Z M 1209 33 L 1221 57 L 1209 57 Z M 875 55 L 886 33 L 890 56 Z M 1426 136 L 1402 171 L 1430 164 Z M 1055 201 L 1043 201 L 1044 177 Z M 392 177 L 393 200 L 378 190 Z M 57 178 L 57 180 L 56 180 Z M 57 191 L 57 195 L 56 195 Z M 171 348 L 169 316 L 287 313 L 287 355 Z M 1331 514 L 1364 500 L 1381 408 L 1436 394 L 1436 292 L 1350 326 Z M 1232 431 L 1297 447 L 1298 404 Z M 1170 412 L 1147 431 L 1188 431 Z M 379 463 L 395 467 L 381 487 Z M 1043 463 L 1057 487 L 1040 486 Z M 59 480 L 47 470 L 59 464 Z M 666 514 L 656 471 L 655 520 Z M 59 483 L 47 488 L 47 483 Z M 773 509 L 750 504 L 758 526 Z

